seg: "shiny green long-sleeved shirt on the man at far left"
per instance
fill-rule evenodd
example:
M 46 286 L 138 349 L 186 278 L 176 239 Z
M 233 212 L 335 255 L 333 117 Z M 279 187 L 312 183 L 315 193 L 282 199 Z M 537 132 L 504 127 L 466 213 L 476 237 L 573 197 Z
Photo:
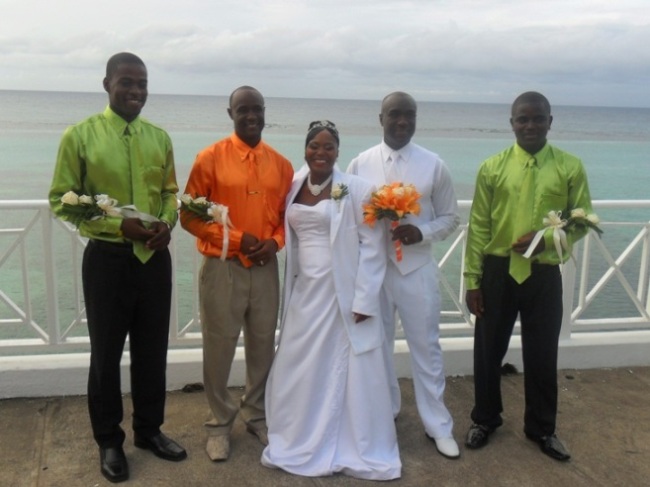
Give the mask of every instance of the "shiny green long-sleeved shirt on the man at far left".
M 121 218 L 79 221 L 67 213 L 61 196 L 68 191 L 106 194 L 116 199 L 118 206 L 135 205 L 138 211 L 173 226 L 178 185 L 169 135 L 141 117 L 127 123 L 110 107 L 68 127 L 63 134 L 49 192 L 52 211 L 75 224 L 85 237 L 124 242 Z

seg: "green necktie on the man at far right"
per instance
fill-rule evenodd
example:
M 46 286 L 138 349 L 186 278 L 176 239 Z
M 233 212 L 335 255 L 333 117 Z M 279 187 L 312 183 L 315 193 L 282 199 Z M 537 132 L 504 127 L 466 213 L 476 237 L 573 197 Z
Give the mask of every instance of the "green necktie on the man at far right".
M 526 161 L 524 177 L 519 192 L 519 206 L 515 219 L 514 235 L 512 241 L 533 230 L 533 216 L 535 214 L 535 180 L 537 176 L 537 161 L 531 157 Z M 510 252 L 510 275 L 518 284 L 530 276 L 530 259 L 521 254 Z

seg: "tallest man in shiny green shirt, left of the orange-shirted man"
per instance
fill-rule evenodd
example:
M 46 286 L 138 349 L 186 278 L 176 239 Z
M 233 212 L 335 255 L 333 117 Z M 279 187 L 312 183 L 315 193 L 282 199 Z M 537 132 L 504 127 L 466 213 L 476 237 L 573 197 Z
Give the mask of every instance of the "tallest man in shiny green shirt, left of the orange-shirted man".
M 120 427 L 120 360 L 127 335 L 135 446 L 166 460 L 187 456 L 160 432 L 172 286 L 167 246 L 177 219 L 178 186 L 169 136 L 139 116 L 147 99 L 142 60 L 115 54 L 103 84 L 109 106 L 63 134 L 49 200 L 57 217 L 89 238 L 82 264 L 91 348 L 88 408 L 101 473 L 122 482 L 129 476 Z M 70 192 L 81 196 L 81 203 L 107 195 L 119 207 L 134 208 L 81 215 L 83 204 Z

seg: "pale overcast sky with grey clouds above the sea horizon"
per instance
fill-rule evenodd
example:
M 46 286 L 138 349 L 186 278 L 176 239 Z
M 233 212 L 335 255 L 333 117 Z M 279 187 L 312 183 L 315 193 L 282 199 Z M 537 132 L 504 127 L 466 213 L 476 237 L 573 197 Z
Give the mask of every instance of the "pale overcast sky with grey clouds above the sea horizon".
M 0 89 L 650 107 L 650 0 L 0 0 Z

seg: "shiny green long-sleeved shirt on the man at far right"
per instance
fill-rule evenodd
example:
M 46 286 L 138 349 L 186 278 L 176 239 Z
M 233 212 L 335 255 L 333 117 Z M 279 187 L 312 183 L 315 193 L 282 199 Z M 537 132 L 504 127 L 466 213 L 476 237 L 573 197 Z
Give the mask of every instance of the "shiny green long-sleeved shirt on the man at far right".
M 531 157 L 535 157 L 538 167 L 532 204 L 520 198 L 524 168 Z M 509 256 L 512 244 L 528 233 L 514 235 L 517 208 L 522 204 L 534 208 L 533 228 L 529 232 L 544 228 L 543 219 L 549 211 L 561 211 L 564 218 L 576 208 L 591 213 L 587 175 L 580 159 L 550 144 L 537 154 L 528 154 L 515 143 L 483 162 L 469 217 L 464 272 L 468 290 L 480 287 L 486 255 Z M 566 261 L 572 244 L 585 233 L 567 231 L 569 250 L 560 259 L 553 244 L 553 231 L 548 229 L 544 234 L 545 250 L 532 257 L 532 261 L 541 264 Z

